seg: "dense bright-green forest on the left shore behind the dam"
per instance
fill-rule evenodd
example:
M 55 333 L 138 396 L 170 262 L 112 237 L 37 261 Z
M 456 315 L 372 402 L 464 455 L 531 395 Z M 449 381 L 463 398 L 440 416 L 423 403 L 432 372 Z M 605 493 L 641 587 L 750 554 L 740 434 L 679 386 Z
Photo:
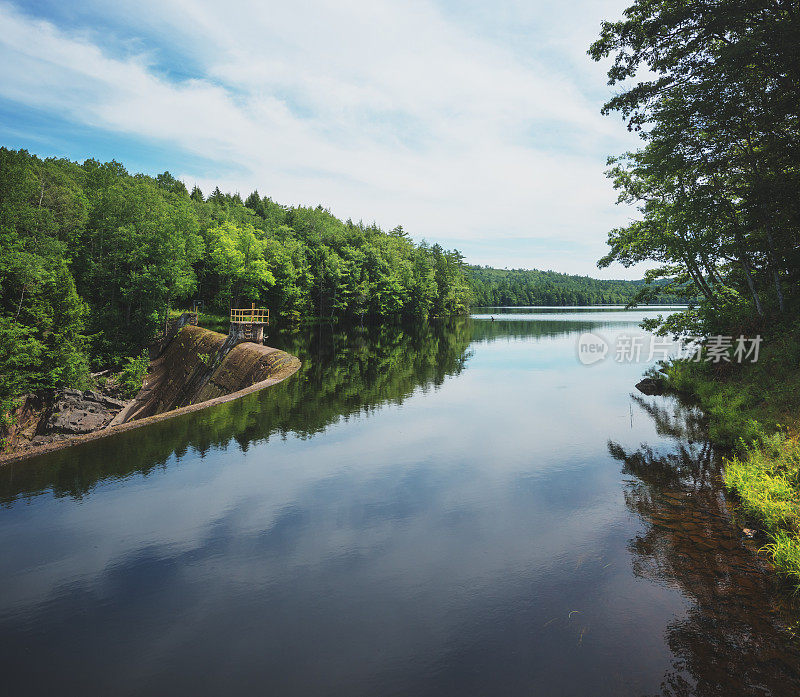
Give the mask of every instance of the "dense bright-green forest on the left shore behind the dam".
M 80 386 L 194 299 L 363 321 L 463 314 L 470 297 L 461 255 L 401 227 L 0 148 L 0 400 Z

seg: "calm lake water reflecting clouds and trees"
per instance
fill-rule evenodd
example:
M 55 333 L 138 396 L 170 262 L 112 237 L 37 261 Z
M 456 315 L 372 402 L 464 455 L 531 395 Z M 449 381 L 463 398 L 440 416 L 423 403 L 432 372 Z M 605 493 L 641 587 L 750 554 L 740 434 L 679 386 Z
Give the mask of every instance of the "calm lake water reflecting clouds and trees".
M 698 415 L 577 360 L 644 313 L 485 312 L 0 469 L 4 692 L 800 694 Z

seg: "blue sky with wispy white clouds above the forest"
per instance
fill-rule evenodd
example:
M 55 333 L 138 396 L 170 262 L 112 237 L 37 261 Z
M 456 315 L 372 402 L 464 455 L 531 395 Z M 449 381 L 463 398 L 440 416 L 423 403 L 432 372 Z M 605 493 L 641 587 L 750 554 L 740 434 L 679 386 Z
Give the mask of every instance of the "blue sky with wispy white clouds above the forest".
M 470 263 L 600 278 L 636 136 L 586 55 L 626 0 L 0 0 L 0 144 L 116 159 Z

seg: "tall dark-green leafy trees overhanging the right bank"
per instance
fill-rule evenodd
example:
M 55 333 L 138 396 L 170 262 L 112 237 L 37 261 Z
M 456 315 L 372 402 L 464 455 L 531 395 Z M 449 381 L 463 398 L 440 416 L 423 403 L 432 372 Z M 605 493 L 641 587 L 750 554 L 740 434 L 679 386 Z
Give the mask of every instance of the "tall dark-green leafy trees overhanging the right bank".
M 641 219 L 600 266 L 656 261 L 702 298 L 664 329 L 789 319 L 800 281 L 800 7 L 789 0 L 637 0 L 589 54 L 611 57 L 604 107 L 643 146 L 611 158 Z M 643 77 L 644 76 L 644 79 Z

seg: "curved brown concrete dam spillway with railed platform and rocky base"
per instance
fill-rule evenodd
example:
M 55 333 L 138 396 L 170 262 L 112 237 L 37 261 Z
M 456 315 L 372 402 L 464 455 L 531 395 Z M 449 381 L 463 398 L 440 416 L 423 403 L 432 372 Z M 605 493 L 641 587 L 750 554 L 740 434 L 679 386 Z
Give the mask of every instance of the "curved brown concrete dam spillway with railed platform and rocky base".
M 184 313 L 151 347 L 142 389 L 127 403 L 91 390 L 25 395 L 0 465 L 229 402 L 297 372 L 299 359 L 264 346 L 253 319 L 232 321 L 226 336 Z

